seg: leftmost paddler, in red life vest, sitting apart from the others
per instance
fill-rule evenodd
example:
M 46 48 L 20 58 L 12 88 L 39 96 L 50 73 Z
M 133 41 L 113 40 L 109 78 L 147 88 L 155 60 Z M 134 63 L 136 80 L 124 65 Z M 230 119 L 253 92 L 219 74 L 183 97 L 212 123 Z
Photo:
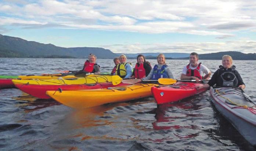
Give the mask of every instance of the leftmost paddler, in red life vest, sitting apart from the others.
M 96 63 L 97 57 L 93 54 L 89 54 L 88 60 L 84 62 L 83 70 L 89 73 L 100 74 L 100 66 Z

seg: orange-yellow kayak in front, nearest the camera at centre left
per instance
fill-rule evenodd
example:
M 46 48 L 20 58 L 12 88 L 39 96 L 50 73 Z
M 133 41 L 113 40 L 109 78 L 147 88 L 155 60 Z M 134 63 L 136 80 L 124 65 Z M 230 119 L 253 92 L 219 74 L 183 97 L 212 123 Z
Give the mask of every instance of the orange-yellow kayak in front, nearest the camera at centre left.
M 58 102 L 73 108 L 88 108 L 105 103 L 124 102 L 151 96 L 151 87 L 158 84 L 133 84 L 77 91 L 46 91 L 46 94 Z

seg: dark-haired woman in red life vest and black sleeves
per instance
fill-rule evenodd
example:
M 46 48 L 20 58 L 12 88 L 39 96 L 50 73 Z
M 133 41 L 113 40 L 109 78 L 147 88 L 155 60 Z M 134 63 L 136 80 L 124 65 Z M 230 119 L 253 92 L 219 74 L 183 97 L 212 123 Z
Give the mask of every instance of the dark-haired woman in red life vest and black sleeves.
M 137 56 L 137 63 L 131 77 L 137 79 L 147 77 L 151 69 L 152 67 L 150 63 L 146 61 L 145 56 L 140 54 Z

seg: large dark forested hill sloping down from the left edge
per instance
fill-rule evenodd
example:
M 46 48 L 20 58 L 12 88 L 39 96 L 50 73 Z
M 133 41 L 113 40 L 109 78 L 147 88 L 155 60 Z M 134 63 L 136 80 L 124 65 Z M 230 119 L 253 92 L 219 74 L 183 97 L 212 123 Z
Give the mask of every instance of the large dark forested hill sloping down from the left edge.
M 0 34 L 0 57 L 46 57 L 46 58 L 87 58 L 95 54 L 97 58 L 108 59 L 118 55 L 108 49 L 97 47 L 64 48 L 53 44 L 42 44 L 17 37 Z

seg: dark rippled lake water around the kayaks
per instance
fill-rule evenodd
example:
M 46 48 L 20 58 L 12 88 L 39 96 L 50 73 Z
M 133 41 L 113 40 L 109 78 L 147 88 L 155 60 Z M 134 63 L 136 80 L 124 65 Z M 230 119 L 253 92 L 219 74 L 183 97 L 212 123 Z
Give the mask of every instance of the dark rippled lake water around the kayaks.
M 128 61 L 134 67 L 136 60 Z M 200 62 L 212 72 L 221 64 Z M 0 58 L 0 74 L 81 70 L 83 63 L 84 59 Z M 102 72 L 110 72 L 114 65 L 112 59 L 97 63 Z M 166 63 L 179 79 L 188 60 Z M 245 92 L 256 101 L 256 61 L 233 64 L 246 84 Z M 214 108 L 209 91 L 160 106 L 149 97 L 73 110 L 19 89 L 0 89 L 0 115 L 0 150 L 255 150 Z

